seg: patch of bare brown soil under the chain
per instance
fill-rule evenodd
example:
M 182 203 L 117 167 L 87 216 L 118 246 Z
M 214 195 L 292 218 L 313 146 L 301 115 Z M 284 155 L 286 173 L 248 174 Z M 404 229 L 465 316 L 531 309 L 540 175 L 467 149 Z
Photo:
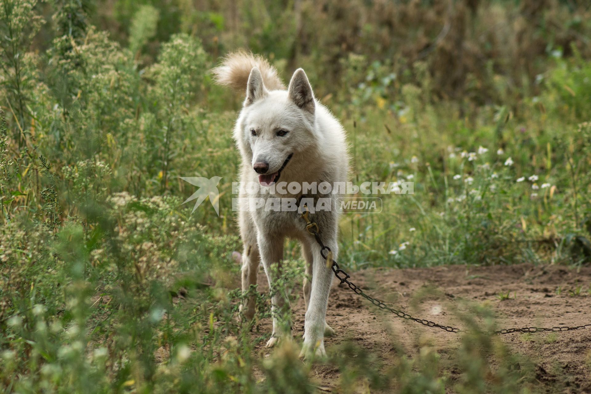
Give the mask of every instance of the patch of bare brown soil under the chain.
M 395 308 L 419 318 L 443 325 L 463 327 L 453 308 L 466 308 L 465 301 L 489 304 L 498 315 L 498 328 L 575 326 L 591 323 L 591 268 L 574 269 L 550 265 L 511 266 L 440 266 L 417 269 L 367 269 L 353 272 L 351 280 L 369 295 L 385 299 Z M 264 275 L 259 284 L 265 282 Z M 261 286 L 262 289 L 263 286 Z M 510 298 L 502 294 L 510 292 Z M 417 294 L 430 294 L 420 297 Z M 469 303 L 469 302 L 468 302 Z M 464 305 L 464 307 L 462 307 Z M 294 338 L 301 338 L 304 328 L 304 300 L 293 308 Z M 327 323 L 336 337 L 326 338 L 325 346 L 335 347 L 352 340 L 381 359 L 385 365 L 400 357 L 394 349 L 403 349 L 408 357 L 417 354 L 420 343 L 434 344 L 441 360 L 460 346 L 459 334 L 424 327 L 385 313 L 339 285 L 335 280 L 330 294 Z M 259 334 L 271 331 L 270 321 L 263 321 Z M 501 340 L 512 353 L 527 356 L 535 363 L 536 386 L 545 392 L 591 392 L 587 364 L 591 349 L 591 327 L 564 333 L 506 334 Z M 263 343 L 264 344 L 264 343 Z M 258 350 L 264 354 L 272 350 Z M 339 372 L 319 365 L 319 385 L 335 387 Z M 453 367 L 446 371 L 454 378 Z

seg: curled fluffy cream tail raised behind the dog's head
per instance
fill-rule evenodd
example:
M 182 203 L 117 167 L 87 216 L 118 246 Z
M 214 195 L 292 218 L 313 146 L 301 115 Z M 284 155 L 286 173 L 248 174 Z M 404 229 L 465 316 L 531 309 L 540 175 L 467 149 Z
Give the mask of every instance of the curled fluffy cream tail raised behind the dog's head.
M 212 73 L 218 84 L 230 86 L 232 89 L 243 92 L 246 90 L 252 67 L 257 67 L 261 71 L 262 80 L 267 89 L 285 89 L 275 67 L 271 66 L 265 58 L 243 51 L 226 56 L 222 64 L 213 69 Z

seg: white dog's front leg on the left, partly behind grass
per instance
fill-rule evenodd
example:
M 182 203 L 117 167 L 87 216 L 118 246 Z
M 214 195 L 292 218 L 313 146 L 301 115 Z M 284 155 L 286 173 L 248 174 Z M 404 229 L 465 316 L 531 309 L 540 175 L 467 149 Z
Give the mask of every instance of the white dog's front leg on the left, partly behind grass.
M 283 258 L 283 237 L 258 234 L 261 261 L 269 281 L 271 291 L 271 315 L 273 317 L 273 332 L 267 341 L 267 347 L 274 346 L 282 332 L 291 335 L 290 304 L 284 288 L 277 286 L 277 279 L 281 275 L 281 259 Z M 287 318 L 287 320 L 283 320 Z

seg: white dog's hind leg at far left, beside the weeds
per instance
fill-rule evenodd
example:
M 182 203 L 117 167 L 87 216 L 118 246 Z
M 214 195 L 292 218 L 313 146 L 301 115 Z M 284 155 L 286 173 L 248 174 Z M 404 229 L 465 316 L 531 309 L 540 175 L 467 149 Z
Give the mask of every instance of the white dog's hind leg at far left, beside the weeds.
M 239 213 L 238 223 L 242 236 L 244 250 L 242 252 L 242 294 L 251 292 L 240 305 L 240 312 L 246 320 L 252 320 L 256 306 L 256 277 L 258 275 L 259 255 L 256 242 L 256 227 L 251 216 L 247 212 Z M 252 286 L 252 289 L 251 289 Z

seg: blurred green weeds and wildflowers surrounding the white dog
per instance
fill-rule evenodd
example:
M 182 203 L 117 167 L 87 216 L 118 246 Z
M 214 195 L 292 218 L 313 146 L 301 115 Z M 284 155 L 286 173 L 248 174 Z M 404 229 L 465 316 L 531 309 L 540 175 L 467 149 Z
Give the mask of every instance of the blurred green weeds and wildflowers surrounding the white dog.
M 236 320 L 236 48 L 304 67 L 349 131 L 352 180 L 414 182 L 346 214 L 342 265 L 591 259 L 586 1 L 2 0 L 0 388 L 314 392 L 297 343 Z M 220 216 L 178 177 L 222 175 Z M 289 243 L 287 256 L 298 256 Z M 303 263 L 280 289 L 295 294 Z M 270 315 L 258 294 L 257 319 Z M 466 326 L 491 312 L 470 305 Z M 254 333 L 243 329 L 254 328 Z M 342 392 L 531 392 L 531 362 L 466 336 L 394 363 L 343 343 Z M 490 363 L 495 360 L 495 363 Z M 491 365 L 495 365 L 492 367 Z M 450 377 L 447 371 L 453 370 Z

